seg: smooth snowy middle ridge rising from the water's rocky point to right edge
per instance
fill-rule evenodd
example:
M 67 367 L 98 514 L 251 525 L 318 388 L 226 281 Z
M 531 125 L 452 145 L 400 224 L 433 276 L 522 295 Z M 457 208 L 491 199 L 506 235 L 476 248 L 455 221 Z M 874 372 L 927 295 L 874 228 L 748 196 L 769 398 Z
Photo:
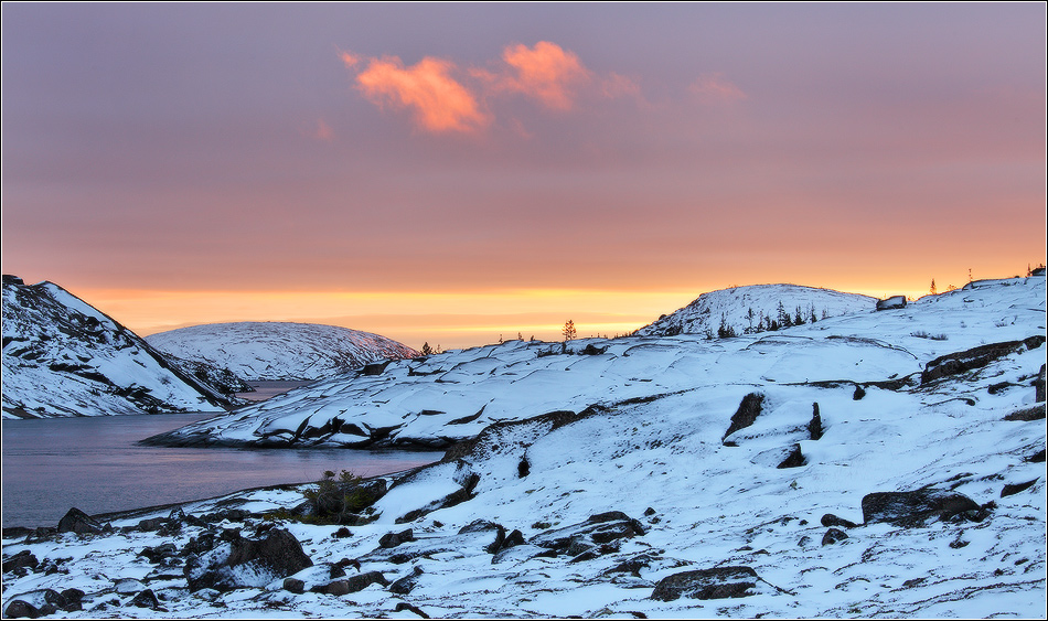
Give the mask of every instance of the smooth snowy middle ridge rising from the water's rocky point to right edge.
M 432 449 L 494 422 L 685 389 L 919 377 L 943 354 L 1042 333 L 1044 298 L 1044 277 L 1033 277 L 729 339 L 578 340 L 565 353 L 559 343 L 509 341 L 330 378 L 150 441 Z

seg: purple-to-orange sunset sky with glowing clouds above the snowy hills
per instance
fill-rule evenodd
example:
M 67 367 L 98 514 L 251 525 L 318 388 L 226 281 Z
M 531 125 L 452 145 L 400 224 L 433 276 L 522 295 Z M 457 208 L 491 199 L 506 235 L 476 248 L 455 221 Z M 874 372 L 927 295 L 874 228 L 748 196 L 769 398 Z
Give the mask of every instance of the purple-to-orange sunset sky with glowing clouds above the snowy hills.
M 1044 3 L 2 4 L 2 269 L 141 335 L 621 334 L 1046 260 Z

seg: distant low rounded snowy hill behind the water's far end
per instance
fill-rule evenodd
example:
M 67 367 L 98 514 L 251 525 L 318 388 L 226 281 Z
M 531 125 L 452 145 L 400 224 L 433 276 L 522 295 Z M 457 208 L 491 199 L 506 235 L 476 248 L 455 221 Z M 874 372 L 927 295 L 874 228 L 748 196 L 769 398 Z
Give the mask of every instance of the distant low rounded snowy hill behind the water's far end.
M 316 323 L 208 323 L 147 336 L 180 358 L 228 368 L 245 379 L 320 379 L 365 364 L 419 355 L 378 334 Z

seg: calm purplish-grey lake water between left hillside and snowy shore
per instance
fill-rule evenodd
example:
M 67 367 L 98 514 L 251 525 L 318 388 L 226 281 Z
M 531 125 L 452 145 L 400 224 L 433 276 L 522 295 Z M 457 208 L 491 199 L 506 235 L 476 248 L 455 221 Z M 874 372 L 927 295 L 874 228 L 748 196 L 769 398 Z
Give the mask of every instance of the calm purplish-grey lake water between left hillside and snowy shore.
M 439 460 L 440 452 L 145 447 L 138 440 L 213 414 L 3 420 L 2 525 L 55 526 L 69 507 L 89 515 L 189 502 L 324 470 L 363 477 Z

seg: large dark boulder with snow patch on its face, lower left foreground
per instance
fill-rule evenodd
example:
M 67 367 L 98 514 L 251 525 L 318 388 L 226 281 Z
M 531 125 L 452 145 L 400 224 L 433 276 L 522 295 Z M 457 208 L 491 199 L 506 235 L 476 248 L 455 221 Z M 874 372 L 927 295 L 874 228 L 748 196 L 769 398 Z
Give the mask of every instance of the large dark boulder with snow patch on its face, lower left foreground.
M 227 531 L 211 550 L 191 554 L 183 572 L 190 591 L 205 588 L 227 591 L 264 587 L 312 565 L 301 544 L 288 531 L 274 528 L 261 539 L 247 539 Z

